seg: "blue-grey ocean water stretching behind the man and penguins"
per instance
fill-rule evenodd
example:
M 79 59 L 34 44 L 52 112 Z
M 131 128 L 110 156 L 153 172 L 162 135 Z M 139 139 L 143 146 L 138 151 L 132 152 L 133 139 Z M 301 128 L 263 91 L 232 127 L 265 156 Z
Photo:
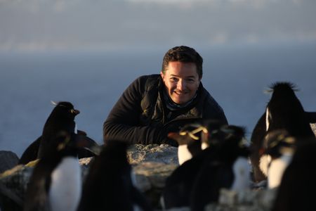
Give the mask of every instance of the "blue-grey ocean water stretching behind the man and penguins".
M 274 82 L 297 85 L 307 111 L 316 111 L 316 44 L 197 49 L 202 83 L 230 124 L 250 137 Z M 165 50 L 123 52 L 0 53 L 0 150 L 18 156 L 41 135 L 51 101 L 81 111 L 78 129 L 103 143 L 103 122 L 126 87 L 140 75 L 159 73 Z

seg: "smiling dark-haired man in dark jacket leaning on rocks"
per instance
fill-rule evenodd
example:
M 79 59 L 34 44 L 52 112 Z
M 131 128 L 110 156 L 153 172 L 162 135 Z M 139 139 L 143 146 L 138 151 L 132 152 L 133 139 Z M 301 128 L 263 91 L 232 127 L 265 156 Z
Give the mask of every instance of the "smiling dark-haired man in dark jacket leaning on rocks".
M 202 86 L 199 53 L 187 46 L 166 52 L 160 75 L 138 77 L 124 91 L 103 124 L 105 143 L 169 143 L 169 125 L 176 120 L 203 118 L 227 124 L 225 114 Z

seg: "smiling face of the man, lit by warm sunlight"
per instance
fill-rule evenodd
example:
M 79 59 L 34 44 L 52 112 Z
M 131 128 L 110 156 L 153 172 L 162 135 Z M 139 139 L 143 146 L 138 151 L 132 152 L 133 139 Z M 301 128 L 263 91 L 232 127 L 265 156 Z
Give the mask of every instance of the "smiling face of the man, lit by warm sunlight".
M 199 75 L 195 63 L 169 62 L 165 74 L 160 72 L 166 91 L 174 103 L 190 101 L 199 88 Z

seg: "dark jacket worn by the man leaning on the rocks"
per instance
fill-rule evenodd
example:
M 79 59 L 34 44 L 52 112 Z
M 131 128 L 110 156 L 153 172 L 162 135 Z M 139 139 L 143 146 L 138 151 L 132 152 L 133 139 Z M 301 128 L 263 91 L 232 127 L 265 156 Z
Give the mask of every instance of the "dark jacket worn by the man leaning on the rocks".
M 187 118 L 216 119 L 227 123 L 223 109 L 200 83 L 190 106 L 171 111 L 164 104 L 160 75 L 138 77 L 119 98 L 103 124 L 103 139 L 129 143 L 168 143 L 164 125 Z

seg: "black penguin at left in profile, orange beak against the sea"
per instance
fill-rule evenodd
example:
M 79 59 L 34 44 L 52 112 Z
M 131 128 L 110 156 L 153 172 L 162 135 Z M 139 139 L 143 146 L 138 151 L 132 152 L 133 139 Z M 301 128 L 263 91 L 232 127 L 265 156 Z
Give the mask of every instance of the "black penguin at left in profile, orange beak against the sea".
M 86 136 L 85 132 L 77 131 L 74 117 L 79 114 L 79 110 L 74 109 L 74 106 L 70 102 L 60 102 L 55 104 L 55 108 L 49 115 L 42 135 L 39 136 L 33 143 L 31 143 L 19 160 L 19 164 L 27 164 L 32 160 L 41 158 L 46 151 L 50 151 L 51 148 L 55 148 L 55 137 L 63 131 L 69 134 L 81 134 Z M 93 152 L 93 148 L 97 148 L 98 144 L 93 139 L 86 136 L 86 142 L 88 143 L 86 148 L 82 148 L 79 151 L 79 158 L 92 157 L 96 155 Z

